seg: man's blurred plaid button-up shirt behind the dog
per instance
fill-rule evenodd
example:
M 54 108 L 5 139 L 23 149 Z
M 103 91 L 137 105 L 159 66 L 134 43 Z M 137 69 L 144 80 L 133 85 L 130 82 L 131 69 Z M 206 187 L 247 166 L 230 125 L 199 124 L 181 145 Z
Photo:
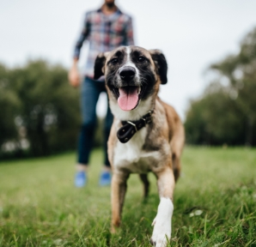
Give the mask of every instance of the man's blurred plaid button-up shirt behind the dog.
M 100 52 L 112 51 L 120 45 L 134 45 L 131 17 L 119 9 L 113 15 L 104 15 L 101 9 L 89 11 L 76 42 L 74 57 L 79 58 L 84 40 L 89 42 L 85 75 L 93 78 L 95 58 Z

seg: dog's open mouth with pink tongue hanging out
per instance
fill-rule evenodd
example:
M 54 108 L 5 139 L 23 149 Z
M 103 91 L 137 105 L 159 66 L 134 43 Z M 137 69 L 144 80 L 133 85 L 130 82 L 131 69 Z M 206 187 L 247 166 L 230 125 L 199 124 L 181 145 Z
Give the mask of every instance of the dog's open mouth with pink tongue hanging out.
M 143 89 L 143 87 L 126 86 L 114 87 L 113 91 L 118 98 L 119 107 L 123 111 L 131 111 L 138 105 Z

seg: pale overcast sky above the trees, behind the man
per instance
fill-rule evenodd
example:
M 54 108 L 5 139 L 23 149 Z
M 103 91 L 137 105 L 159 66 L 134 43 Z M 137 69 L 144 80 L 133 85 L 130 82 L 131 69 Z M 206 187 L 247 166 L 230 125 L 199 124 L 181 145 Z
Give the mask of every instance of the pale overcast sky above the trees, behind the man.
M 46 58 L 70 67 L 85 11 L 103 0 L 0 0 L 0 62 L 22 65 Z M 160 96 L 185 119 L 189 99 L 204 91 L 210 63 L 238 51 L 241 39 L 256 27 L 253 0 L 116 0 L 133 17 L 136 45 L 161 49 L 168 60 L 168 84 Z M 80 66 L 84 65 L 84 45 Z M 97 111 L 106 109 L 101 96 Z

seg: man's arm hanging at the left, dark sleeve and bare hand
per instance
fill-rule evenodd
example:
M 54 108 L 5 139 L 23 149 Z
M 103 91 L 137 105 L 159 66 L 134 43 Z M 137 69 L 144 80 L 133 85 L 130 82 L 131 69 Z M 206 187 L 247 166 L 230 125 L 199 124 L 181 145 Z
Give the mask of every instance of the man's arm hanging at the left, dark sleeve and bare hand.
M 79 39 L 76 42 L 74 56 L 73 56 L 73 63 L 70 68 L 69 72 L 69 81 L 71 86 L 78 87 L 80 85 L 80 75 L 79 70 L 77 68 L 77 63 L 80 56 L 80 51 L 82 48 L 83 41 L 88 38 L 88 33 L 90 31 L 90 24 L 88 20 L 88 15 L 85 16 L 84 25 L 82 28 L 82 33 L 79 36 Z

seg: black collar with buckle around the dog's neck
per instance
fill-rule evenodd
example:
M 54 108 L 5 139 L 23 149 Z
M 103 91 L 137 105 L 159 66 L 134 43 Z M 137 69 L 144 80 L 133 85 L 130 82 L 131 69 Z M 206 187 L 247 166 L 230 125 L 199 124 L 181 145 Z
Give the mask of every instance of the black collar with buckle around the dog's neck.
M 121 123 L 123 127 L 121 127 L 117 132 L 119 141 L 122 143 L 128 142 L 138 130 L 146 126 L 147 123 L 152 122 L 152 113 L 153 111 L 149 111 L 137 121 L 122 121 Z

